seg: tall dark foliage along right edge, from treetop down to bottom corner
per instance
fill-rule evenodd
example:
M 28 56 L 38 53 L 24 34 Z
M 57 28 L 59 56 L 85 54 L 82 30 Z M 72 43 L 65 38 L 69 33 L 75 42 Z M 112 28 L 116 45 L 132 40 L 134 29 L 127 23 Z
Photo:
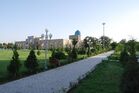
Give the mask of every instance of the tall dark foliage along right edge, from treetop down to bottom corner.
M 123 93 L 139 93 L 139 63 L 136 58 L 135 43 L 135 40 L 129 40 L 125 44 L 129 57 L 126 59 L 127 63 L 121 82 L 121 90 Z M 127 55 L 127 52 L 124 54 Z

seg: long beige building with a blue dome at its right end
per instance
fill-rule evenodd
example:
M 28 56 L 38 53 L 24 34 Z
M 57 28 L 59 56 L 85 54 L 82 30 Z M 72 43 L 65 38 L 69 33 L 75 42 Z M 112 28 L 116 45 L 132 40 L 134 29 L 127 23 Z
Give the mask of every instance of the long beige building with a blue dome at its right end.
M 44 36 L 41 37 L 34 37 L 34 36 L 28 36 L 25 41 L 17 41 L 15 44 L 17 47 L 22 49 L 29 49 L 31 46 L 37 47 L 39 46 L 40 49 L 45 49 L 47 46 L 48 49 L 52 48 L 65 48 L 65 47 L 71 47 L 72 46 L 72 40 L 77 39 L 79 47 L 82 40 L 81 40 L 81 32 L 79 30 L 75 31 L 74 35 L 69 35 L 69 39 L 51 39 L 52 35 L 50 35 L 50 39 L 45 40 Z

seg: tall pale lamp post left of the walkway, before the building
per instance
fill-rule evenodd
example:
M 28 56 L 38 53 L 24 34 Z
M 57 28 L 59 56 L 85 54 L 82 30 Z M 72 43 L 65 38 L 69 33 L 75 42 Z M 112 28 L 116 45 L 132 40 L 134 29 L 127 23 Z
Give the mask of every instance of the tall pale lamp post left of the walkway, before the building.
M 47 69 L 47 59 L 48 59 L 48 30 L 45 29 L 45 69 Z

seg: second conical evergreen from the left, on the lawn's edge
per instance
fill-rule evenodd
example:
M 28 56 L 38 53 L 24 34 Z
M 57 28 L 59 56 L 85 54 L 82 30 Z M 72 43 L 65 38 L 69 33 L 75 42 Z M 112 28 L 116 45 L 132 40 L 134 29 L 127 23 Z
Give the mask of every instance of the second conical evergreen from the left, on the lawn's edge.
M 38 61 L 34 50 L 32 49 L 25 61 L 25 67 L 28 69 L 29 73 L 36 73 L 38 70 Z

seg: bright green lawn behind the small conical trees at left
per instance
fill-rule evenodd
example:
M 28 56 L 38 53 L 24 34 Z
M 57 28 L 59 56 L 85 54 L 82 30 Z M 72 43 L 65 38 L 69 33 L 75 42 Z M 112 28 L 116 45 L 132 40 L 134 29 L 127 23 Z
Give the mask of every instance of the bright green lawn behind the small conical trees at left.
M 45 51 L 40 50 L 41 54 L 38 56 L 37 59 L 39 61 L 40 67 L 44 66 L 45 62 Z M 24 67 L 24 61 L 26 60 L 30 50 L 18 50 L 19 58 L 22 63 L 22 67 L 20 71 L 25 71 L 26 68 Z M 35 51 L 37 52 L 37 51 Z M 10 60 L 12 59 L 13 52 L 12 50 L 0 50 L 0 78 L 5 77 L 7 73 L 7 65 L 9 65 Z M 51 52 L 48 53 L 48 57 L 50 57 Z

